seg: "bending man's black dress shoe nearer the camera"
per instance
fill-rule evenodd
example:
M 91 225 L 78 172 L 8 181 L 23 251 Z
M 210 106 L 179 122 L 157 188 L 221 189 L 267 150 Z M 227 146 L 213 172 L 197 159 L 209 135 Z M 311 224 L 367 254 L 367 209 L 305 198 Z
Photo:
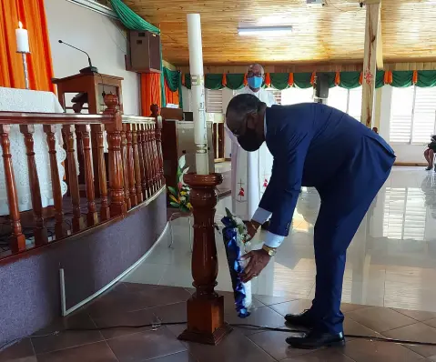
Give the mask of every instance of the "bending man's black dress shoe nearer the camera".
M 316 349 L 320 347 L 340 347 L 345 346 L 345 337 L 340 333 L 322 333 L 310 331 L 299 337 L 288 337 L 286 342 L 294 348 Z

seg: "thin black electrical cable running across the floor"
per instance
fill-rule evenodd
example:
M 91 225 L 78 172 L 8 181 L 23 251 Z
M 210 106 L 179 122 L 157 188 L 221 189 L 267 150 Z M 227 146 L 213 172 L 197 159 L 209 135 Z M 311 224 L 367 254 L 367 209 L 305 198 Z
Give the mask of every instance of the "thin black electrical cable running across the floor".
M 145 328 L 145 327 L 152 327 L 153 330 L 157 330 L 159 327 L 165 327 L 165 326 L 177 326 L 177 325 L 185 325 L 187 322 L 157 322 L 157 323 L 150 323 L 145 325 L 137 325 L 137 326 L 108 326 L 108 327 L 91 327 L 91 328 L 66 328 L 62 330 L 56 330 L 52 333 L 47 333 L 45 335 L 34 335 L 34 336 L 27 336 L 27 337 L 20 337 L 15 338 L 12 341 L 6 342 L 4 345 L 0 346 L 0 351 L 2 351 L 5 347 L 9 347 L 13 345 L 15 342 L 25 339 L 25 338 L 42 338 L 42 337 L 52 337 L 52 336 L 58 336 L 59 334 L 63 332 L 86 332 L 86 331 L 100 331 L 100 330 L 108 330 L 108 329 L 116 329 L 116 328 Z M 257 328 L 259 330 L 269 330 L 269 331 L 276 331 L 276 332 L 285 332 L 285 333 L 308 333 L 307 330 L 302 329 L 288 329 L 288 328 L 281 328 L 281 327 L 267 327 L 267 326 L 257 326 L 257 325 L 251 325 L 251 324 L 245 324 L 245 323 L 234 323 L 229 324 L 231 327 L 242 327 L 242 328 Z M 360 339 L 369 339 L 369 340 L 375 340 L 378 342 L 390 342 L 390 343 L 398 343 L 402 345 L 416 345 L 416 346 L 433 346 L 436 347 L 436 343 L 432 342 L 421 342 L 421 341 L 411 341 L 411 340 L 405 340 L 405 339 L 395 339 L 395 338 L 389 338 L 389 337 L 374 337 L 374 336 L 360 336 L 360 335 L 344 335 L 344 337 L 348 338 L 360 338 Z

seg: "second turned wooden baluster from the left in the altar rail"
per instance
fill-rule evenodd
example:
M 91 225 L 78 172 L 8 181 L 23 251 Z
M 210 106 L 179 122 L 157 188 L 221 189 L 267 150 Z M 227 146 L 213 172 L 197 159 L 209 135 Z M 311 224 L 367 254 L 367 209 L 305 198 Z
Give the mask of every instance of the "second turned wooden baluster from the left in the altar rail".
M 35 218 L 34 236 L 35 245 L 48 242 L 47 229 L 44 226 L 43 205 L 41 202 L 41 187 L 39 186 L 38 172 L 35 162 L 34 125 L 21 125 L 20 131 L 25 137 L 25 154 L 27 155 L 27 168 L 29 172 L 30 195 L 32 197 L 32 211 Z

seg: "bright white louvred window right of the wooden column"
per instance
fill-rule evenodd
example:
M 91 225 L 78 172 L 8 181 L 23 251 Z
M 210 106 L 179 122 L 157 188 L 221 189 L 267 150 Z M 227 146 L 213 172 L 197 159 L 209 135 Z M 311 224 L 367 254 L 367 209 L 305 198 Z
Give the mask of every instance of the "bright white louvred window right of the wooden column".
M 390 114 L 390 142 L 429 143 L 435 133 L 436 88 L 393 88 Z

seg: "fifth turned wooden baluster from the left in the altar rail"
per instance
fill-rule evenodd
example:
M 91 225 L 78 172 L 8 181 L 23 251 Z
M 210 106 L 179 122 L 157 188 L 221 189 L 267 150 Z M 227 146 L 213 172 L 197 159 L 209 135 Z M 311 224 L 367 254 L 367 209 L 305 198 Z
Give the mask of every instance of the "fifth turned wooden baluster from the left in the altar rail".
M 78 126 L 82 134 L 83 153 L 85 160 L 85 186 L 87 199 L 86 225 L 95 226 L 98 223 L 96 213 L 96 196 L 94 191 L 94 169 L 91 155 L 91 126 Z

